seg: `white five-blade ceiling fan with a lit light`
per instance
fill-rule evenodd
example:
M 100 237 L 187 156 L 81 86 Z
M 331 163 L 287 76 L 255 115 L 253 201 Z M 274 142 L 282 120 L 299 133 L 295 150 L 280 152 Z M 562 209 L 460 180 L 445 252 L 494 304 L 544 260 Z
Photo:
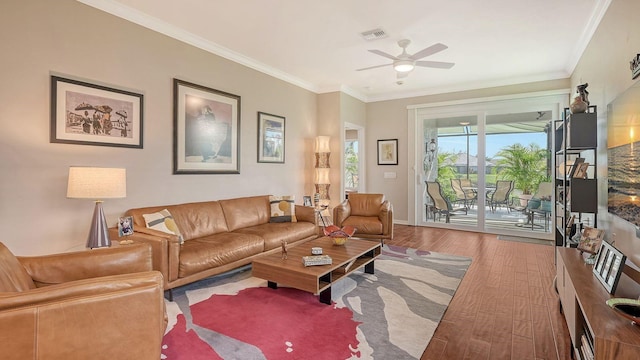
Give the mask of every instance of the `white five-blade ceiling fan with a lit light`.
M 450 63 L 450 62 L 420 60 L 422 58 L 425 58 L 427 56 L 433 55 L 435 53 L 438 53 L 442 50 L 447 49 L 448 48 L 447 45 L 436 43 L 429 46 L 428 48 L 418 51 L 413 55 L 409 55 L 407 53 L 407 46 L 409 46 L 409 44 L 411 44 L 411 41 L 407 39 L 398 41 L 398 46 L 402 48 L 402 54 L 398 56 L 387 54 L 386 52 L 381 50 L 369 50 L 369 52 L 386 57 L 387 59 L 391 59 L 393 60 L 393 62 L 390 64 L 369 66 L 366 68 L 357 69 L 356 71 L 370 70 L 370 69 L 376 69 L 379 67 L 393 65 L 393 68 L 398 72 L 398 78 L 403 78 L 403 77 L 406 77 L 409 74 L 409 72 L 411 72 L 416 66 L 438 68 L 438 69 L 451 69 L 453 65 L 455 65 L 454 63 Z

